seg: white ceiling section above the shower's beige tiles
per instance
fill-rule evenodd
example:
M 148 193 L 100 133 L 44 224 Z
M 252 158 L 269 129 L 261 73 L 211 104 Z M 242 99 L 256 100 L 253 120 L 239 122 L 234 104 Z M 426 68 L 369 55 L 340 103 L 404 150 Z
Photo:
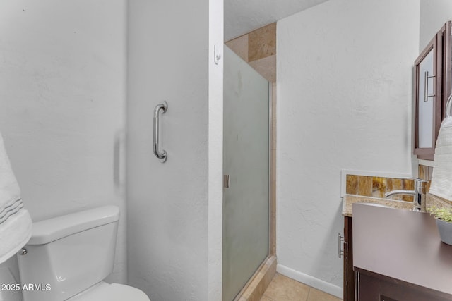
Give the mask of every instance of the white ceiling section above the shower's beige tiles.
M 225 0 L 225 41 L 328 0 Z

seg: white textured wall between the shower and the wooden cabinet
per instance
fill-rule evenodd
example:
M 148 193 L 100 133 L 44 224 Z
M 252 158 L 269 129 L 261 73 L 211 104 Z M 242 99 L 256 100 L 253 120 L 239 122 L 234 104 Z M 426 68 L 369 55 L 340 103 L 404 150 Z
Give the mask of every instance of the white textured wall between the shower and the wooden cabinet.
M 330 0 L 278 22 L 278 271 L 334 295 L 341 169 L 412 172 L 419 10 Z

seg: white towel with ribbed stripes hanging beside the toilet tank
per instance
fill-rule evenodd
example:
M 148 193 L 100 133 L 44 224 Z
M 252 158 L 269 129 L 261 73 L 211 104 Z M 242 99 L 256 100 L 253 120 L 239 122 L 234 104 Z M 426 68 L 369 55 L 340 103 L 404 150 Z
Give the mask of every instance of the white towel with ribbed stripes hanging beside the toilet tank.
M 0 263 L 28 242 L 31 228 L 30 214 L 23 208 L 20 188 L 0 134 Z

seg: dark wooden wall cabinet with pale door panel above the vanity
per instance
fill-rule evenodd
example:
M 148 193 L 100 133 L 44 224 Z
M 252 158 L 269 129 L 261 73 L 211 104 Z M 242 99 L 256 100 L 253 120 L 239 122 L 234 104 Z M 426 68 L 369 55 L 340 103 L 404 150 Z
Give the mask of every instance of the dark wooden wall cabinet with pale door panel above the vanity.
M 451 21 L 429 42 L 415 61 L 414 154 L 433 160 L 436 137 L 451 94 Z

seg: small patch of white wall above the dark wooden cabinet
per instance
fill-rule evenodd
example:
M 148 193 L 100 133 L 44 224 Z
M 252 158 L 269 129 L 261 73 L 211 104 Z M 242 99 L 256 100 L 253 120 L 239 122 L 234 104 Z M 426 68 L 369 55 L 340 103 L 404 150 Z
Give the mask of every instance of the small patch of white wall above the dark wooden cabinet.
M 444 23 L 452 20 L 452 1 L 420 0 L 420 39 L 422 51 Z

